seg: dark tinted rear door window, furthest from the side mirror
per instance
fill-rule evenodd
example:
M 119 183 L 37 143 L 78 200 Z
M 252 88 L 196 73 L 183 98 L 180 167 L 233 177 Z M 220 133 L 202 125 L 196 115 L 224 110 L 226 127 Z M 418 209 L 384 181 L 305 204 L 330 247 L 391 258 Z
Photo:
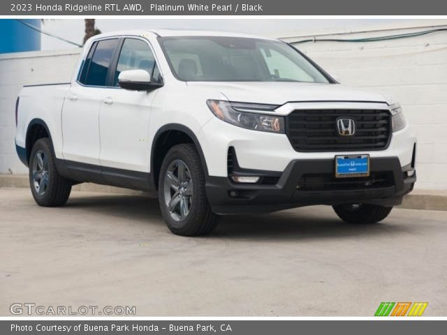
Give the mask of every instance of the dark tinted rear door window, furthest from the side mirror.
M 91 61 L 87 64 L 86 60 L 84 64 L 84 67 L 87 66 L 88 68 L 86 70 L 87 74 L 85 75 L 83 82 L 82 74 L 84 72 L 84 68 L 82 68 L 80 78 L 80 82 L 82 82 L 82 84 L 91 86 L 106 86 L 108 70 L 117 45 L 117 38 L 100 40 L 97 42 L 93 57 L 91 57 Z

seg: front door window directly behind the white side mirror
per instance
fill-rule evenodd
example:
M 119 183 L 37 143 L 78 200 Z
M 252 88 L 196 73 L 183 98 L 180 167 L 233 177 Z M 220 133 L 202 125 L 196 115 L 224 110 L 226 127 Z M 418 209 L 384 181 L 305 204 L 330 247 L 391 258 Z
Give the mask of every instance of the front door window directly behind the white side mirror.
M 156 68 L 154 54 L 144 40 L 126 38 L 119 54 L 117 70 L 115 71 L 114 85 L 118 86 L 119 73 L 125 70 L 146 70 L 154 80 Z M 155 71 L 159 75 L 158 69 Z M 157 77 L 158 78 L 158 77 Z M 156 78 L 156 79 L 157 79 Z

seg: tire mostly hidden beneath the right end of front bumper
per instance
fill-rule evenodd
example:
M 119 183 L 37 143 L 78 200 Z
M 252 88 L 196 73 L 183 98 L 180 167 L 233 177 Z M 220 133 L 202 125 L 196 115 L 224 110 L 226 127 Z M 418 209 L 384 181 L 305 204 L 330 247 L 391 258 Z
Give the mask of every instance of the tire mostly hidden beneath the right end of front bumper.
M 357 224 L 382 221 L 393 209 L 393 207 L 383 207 L 377 204 L 339 204 L 332 208 L 344 222 Z

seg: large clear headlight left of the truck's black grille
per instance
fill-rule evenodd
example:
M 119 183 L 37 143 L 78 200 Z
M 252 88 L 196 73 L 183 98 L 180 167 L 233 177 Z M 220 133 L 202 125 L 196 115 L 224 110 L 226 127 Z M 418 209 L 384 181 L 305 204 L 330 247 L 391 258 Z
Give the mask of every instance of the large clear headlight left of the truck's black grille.
M 208 107 L 222 121 L 254 131 L 284 134 L 284 117 L 268 114 L 256 114 L 255 110 L 272 111 L 274 105 L 258 105 L 251 103 L 230 103 L 228 101 L 208 100 Z M 243 110 L 243 112 L 242 112 Z M 253 111 L 253 112 L 252 112 Z

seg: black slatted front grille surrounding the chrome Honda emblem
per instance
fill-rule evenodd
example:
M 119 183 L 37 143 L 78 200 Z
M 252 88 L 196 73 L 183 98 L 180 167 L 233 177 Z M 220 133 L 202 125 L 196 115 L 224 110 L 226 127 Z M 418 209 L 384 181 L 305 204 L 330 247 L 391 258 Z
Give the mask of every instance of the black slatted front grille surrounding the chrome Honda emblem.
M 356 133 L 341 136 L 337 119 L 356 121 Z M 391 137 L 388 110 L 294 110 L 286 133 L 296 151 L 359 151 L 386 149 Z

